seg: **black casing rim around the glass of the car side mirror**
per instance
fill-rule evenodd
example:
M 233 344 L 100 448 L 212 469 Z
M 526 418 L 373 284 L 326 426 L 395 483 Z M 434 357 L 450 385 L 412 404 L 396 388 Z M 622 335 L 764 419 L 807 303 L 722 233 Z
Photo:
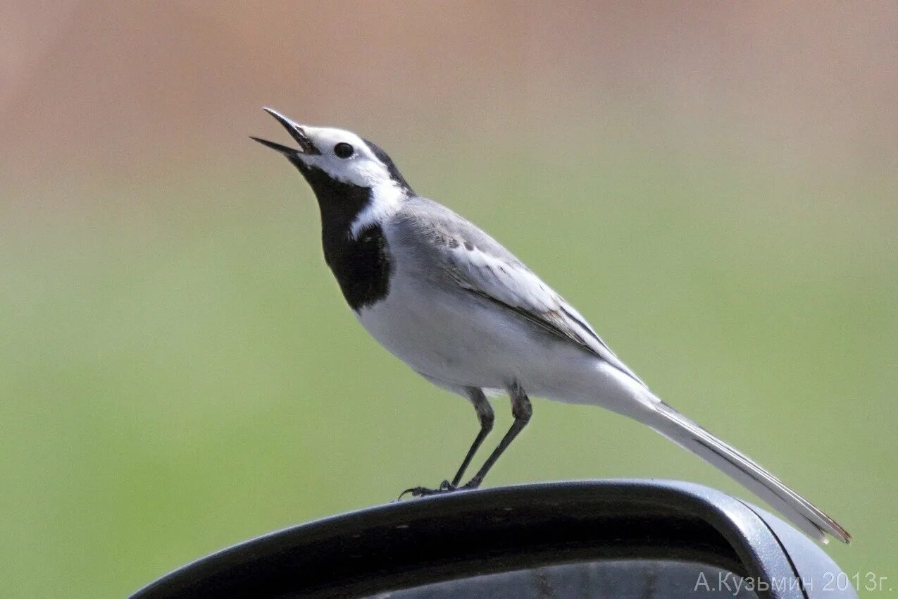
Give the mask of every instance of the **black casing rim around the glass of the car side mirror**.
M 774 516 L 759 515 L 714 489 L 673 481 L 461 491 L 371 507 L 243 542 L 132 597 L 365 596 L 608 559 L 691 561 L 757 580 L 795 579 L 798 572 L 786 551 L 805 551 L 802 543 L 819 550 L 801 535 L 789 539 L 792 546 L 784 544 L 769 518 Z M 758 596 L 813 596 L 788 584 L 763 591 Z

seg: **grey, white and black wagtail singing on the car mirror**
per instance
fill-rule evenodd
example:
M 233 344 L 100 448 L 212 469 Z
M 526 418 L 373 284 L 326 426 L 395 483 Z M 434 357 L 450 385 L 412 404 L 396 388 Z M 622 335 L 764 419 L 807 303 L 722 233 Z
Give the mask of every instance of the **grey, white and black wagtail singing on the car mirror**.
M 358 322 L 437 387 L 471 402 L 480 429 L 452 480 L 421 497 L 476 489 L 530 421 L 530 397 L 612 410 L 697 454 L 786 515 L 810 537 L 850 542 L 830 516 L 747 455 L 649 390 L 561 295 L 476 225 L 418 196 L 378 145 L 264 108 L 297 147 L 282 154 L 312 188 L 324 260 Z M 488 395 L 507 393 L 513 424 L 462 484 L 493 428 Z

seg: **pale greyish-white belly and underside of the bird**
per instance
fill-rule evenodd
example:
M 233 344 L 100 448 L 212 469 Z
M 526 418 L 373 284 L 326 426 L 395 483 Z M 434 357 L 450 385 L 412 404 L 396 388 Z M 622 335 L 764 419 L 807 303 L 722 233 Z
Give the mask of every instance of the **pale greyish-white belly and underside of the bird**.
M 517 381 L 531 395 L 628 411 L 639 385 L 613 366 L 476 296 L 460 300 L 430 285 L 397 274 L 387 298 L 358 314 L 374 339 L 418 373 L 485 389 Z M 621 381 L 633 388 L 621 389 Z

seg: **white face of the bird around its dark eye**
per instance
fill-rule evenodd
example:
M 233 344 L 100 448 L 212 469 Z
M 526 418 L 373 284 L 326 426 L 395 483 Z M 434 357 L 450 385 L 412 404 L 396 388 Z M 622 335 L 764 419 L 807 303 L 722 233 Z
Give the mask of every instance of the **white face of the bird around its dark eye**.
M 376 189 L 392 185 L 387 166 L 355 133 L 327 127 L 299 125 L 321 154 L 297 154 L 309 166 L 321 169 L 333 179 L 359 187 Z

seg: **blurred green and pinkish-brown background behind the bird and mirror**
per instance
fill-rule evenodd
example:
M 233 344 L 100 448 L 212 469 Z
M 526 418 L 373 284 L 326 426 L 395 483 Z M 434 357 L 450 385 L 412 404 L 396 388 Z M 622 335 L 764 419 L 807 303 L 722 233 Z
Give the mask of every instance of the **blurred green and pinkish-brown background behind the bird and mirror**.
M 436 484 L 470 444 L 470 406 L 343 303 L 310 190 L 247 138 L 284 137 L 263 104 L 386 148 L 898 590 L 894 3 L 13 0 L 0 22 L 8 596 L 126 595 Z M 490 485 L 745 497 L 611 413 L 533 410 Z

